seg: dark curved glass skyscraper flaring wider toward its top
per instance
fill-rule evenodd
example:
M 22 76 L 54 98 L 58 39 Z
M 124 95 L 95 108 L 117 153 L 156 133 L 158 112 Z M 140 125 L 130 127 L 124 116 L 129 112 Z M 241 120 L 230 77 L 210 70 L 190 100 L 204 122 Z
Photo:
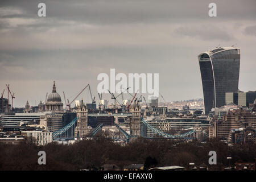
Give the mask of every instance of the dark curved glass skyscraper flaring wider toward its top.
M 240 48 L 223 47 L 198 56 L 204 92 L 205 114 L 225 105 L 225 93 L 238 91 Z

